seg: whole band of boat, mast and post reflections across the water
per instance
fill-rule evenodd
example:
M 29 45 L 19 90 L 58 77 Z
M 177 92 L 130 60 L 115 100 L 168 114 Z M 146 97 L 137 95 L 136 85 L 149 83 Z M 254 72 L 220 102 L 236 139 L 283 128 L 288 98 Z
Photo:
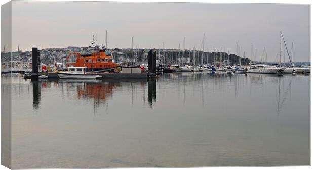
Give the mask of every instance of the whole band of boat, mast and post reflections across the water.
M 289 75 L 290 76 L 290 75 Z M 130 97 L 130 103 L 133 104 L 138 100 L 138 96 L 142 98 L 143 105 L 148 105 L 152 108 L 156 103 L 157 88 L 161 98 L 164 98 L 164 93 L 169 91 L 169 85 L 177 93 L 178 101 L 183 105 L 187 100 L 190 100 L 190 95 L 196 96 L 194 102 L 199 102 L 201 107 L 205 107 L 206 103 L 212 99 L 221 98 L 221 96 L 233 94 L 231 98 L 244 100 L 243 97 L 249 92 L 249 97 L 259 94 L 278 94 L 276 97 L 277 107 L 276 112 L 279 114 L 287 94 L 291 93 L 291 81 L 287 86 L 283 83 L 287 81 L 287 75 L 265 75 L 265 74 L 233 74 L 233 73 L 173 73 L 163 74 L 158 80 L 145 79 L 107 79 L 107 80 L 66 80 L 56 79 L 48 81 L 31 82 L 33 86 L 33 108 L 38 109 L 41 101 L 41 91 L 56 87 L 60 90 L 61 98 L 71 97 L 85 102 L 92 101 L 94 108 L 97 109 L 101 105 L 108 106 L 108 101 L 113 98 L 114 93 L 124 92 Z M 167 83 L 164 83 L 167 82 Z M 157 84 L 159 84 L 157 86 Z M 270 87 L 271 84 L 277 84 L 279 87 Z M 279 86 L 278 86 L 279 85 Z M 60 89 L 61 88 L 61 89 Z M 269 89 L 272 88 L 272 89 Z M 187 90 L 188 89 L 188 90 Z M 284 92 L 284 93 L 283 93 Z M 220 93 L 219 96 L 215 96 Z M 228 94 L 227 94 L 228 93 Z M 252 94 L 253 93 L 253 94 Z M 124 94 L 123 94 L 124 95 Z M 146 97 L 147 95 L 147 97 Z M 121 94 L 116 94 L 117 97 Z M 215 97 L 214 97 L 215 96 Z M 147 99 L 146 99 L 147 98 Z M 226 100 L 226 98 L 224 99 Z M 147 101 L 147 104 L 145 104 Z M 94 109 L 94 112 L 95 112 Z

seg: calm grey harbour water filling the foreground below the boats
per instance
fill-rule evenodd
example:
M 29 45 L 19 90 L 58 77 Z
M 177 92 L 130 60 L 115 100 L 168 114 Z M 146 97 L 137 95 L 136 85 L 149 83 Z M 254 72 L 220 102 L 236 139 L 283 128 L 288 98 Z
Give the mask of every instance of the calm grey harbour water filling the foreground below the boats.
M 310 81 L 13 77 L 13 168 L 310 165 Z

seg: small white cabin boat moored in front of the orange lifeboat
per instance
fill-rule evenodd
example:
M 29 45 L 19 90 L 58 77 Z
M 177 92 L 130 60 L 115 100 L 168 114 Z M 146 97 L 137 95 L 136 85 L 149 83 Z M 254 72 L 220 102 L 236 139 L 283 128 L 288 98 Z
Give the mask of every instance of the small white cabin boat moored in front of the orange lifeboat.
M 68 67 L 65 72 L 57 72 L 60 79 L 97 79 L 102 76 L 86 72 L 87 67 Z

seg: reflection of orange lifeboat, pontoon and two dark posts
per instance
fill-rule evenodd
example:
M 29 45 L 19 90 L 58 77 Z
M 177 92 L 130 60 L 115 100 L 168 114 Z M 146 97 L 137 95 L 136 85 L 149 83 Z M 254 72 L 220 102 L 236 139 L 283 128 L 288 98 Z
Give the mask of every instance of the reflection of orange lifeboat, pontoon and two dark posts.
M 101 104 L 107 104 L 107 100 L 113 97 L 114 92 L 126 91 L 131 95 L 133 104 L 134 97 L 138 96 L 138 91 L 143 91 L 145 98 L 147 95 L 148 106 L 156 102 L 156 80 L 146 79 L 108 79 L 108 80 L 76 80 L 76 79 L 54 79 L 48 81 L 31 82 L 33 87 L 33 108 L 38 109 L 41 100 L 41 90 L 46 88 L 56 88 L 62 90 L 62 98 L 74 96 L 75 99 L 90 101 L 93 99 L 97 108 Z M 146 87 L 147 86 L 147 87 Z M 147 94 L 145 94 L 145 88 Z M 72 91 L 75 91 L 72 93 Z M 136 91 L 136 92 L 135 92 Z

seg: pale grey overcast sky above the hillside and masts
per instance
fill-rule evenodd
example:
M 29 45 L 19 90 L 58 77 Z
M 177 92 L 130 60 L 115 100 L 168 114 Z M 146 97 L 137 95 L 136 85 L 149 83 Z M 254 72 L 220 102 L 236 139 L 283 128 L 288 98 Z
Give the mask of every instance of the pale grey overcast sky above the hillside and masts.
M 310 5 L 119 3 L 119 2 L 12 2 L 12 49 L 89 46 L 92 35 L 109 48 L 133 47 L 221 49 L 259 61 L 265 47 L 267 61 L 279 61 L 280 31 L 294 61 L 310 60 Z M 2 47 L 3 48 L 3 47 Z M 283 44 L 283 55 L 287 57 Z M 285 59 L 285 61 L 288 61 Z

